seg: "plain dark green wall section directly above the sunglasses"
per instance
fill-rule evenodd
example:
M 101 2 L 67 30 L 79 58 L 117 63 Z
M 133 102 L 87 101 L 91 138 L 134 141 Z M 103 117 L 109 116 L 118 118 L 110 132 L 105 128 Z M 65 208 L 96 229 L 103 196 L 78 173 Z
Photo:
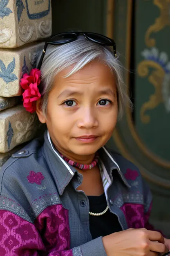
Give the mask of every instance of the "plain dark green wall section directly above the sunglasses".
M 52 0 L 53 33 L 81 30 L 105 33 L 105 0 Z

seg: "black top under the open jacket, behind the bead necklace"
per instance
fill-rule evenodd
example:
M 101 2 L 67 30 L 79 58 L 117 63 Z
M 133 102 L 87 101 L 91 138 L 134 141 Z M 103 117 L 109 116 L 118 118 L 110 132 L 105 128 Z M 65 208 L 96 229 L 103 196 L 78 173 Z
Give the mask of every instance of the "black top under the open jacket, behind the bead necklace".
M 88 199 L 90 212 L 92 213 L 101 213 L 107 207 L 105 194 L 102 194 L 99 197 L 88 196 Z M 117 216 L 111 213 L 109 209 L 101 216 L 89 215 L 89 226 L 93 239 L 122 231 Z

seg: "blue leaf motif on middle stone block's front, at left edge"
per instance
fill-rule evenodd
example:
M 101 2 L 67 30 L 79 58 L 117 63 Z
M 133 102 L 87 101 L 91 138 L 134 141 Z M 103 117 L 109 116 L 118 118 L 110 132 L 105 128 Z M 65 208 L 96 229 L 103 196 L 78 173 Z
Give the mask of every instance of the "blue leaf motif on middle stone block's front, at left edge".
M 9 63 L 7 68 L 4 65 L 4 63 L 2 62 L 2 60 L 0 59 L 0 69 L 1 69 L 0 78 L 2 78 L 4 80 L 4 82 L 6 82 L 6 84 L 9 83 L 9 82 L 13 82 L 16 79 L 18 79 L 15 74 L 12 74 L 15 67 L 16 67 L 15 58 L 13 58 L 13 61 L 11 63 Z

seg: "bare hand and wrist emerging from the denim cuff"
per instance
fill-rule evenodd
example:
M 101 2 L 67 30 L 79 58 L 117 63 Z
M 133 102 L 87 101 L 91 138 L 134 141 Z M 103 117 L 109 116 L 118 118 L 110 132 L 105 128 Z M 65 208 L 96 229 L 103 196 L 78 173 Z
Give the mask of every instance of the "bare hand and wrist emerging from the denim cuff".
M 156 256 L 168 252 L 157 231 L 127 229 L 102 238 L 107 256 Z

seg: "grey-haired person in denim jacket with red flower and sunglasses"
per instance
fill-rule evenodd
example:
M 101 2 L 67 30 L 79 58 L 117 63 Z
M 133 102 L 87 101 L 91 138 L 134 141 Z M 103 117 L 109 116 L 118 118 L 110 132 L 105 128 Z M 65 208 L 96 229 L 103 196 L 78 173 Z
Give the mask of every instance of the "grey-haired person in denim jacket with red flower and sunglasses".
M 53 36 L 21 86 L 47 131 L 0 171 L 0 255 L 167 252 L 169 240 L 147 230 L 152 197 L 139 170 L 104 146 L 130 104 L 114 41 Z

